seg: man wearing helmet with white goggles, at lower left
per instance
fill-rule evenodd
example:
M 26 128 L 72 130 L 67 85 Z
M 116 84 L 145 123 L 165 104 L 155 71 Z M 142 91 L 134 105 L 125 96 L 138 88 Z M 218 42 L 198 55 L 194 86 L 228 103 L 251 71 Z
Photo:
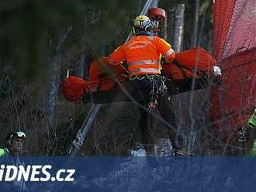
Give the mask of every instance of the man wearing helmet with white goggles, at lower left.
M 11 132 L 5 139 L 6 148 L 0 149 L 0 157 L 19 156 L 25 140 L 26 134 L 24 132 Z

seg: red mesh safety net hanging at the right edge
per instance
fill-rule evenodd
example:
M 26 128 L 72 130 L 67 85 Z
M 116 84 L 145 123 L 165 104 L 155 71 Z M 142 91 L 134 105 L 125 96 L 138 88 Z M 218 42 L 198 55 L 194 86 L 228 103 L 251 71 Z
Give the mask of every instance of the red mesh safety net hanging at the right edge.
M 256 105 L 256 1 L 216 0 L 213 22 L 213 55 L 223 84 L 213 89 L 210 116 L 227 138 Z

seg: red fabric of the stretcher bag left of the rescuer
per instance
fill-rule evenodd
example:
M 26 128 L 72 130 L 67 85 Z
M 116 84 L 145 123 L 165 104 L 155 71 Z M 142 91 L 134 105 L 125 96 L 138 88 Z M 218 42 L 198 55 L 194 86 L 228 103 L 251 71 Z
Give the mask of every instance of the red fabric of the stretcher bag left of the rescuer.
M 126 68 L 122 65 L 110 66 L 107 57 L 100 57 L 91 63 L 89 81 L 74 76 L 67 77 L 62 81 L 62 94 L 67 101 L 79 103 L 83 94 L 116 88 L 116 81 L 112 77 L 116 77 L 116 81 L 120 83 L 126 81 Z

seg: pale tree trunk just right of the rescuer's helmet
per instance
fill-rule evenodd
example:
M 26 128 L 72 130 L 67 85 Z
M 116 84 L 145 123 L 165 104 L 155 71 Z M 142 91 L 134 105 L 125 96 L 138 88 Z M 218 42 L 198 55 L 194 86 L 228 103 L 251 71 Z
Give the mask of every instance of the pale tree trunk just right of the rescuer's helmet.
M 175 52 L 181 52 L 184 30 L 185 4 L 178 4 L 175 10 L 175 33 L 173 47 Z

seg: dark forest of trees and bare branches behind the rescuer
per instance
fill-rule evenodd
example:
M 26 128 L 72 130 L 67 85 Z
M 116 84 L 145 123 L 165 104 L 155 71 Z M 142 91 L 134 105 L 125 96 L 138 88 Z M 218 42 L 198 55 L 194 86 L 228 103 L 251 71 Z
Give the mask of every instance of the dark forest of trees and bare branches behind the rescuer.
M 125 42 L 130 22 L 145 2 L 1 1 L 0 146 L 5 145 L 7 133 L 22 130 L 27 135 L 25 155 L 66 155 L 91 105 L 66 101 L 61 81 L 67 70 L 88 79 L 92 60 L 109 55 Z M 185 7 L 180 51 L 202 46 L 211 53 L 213 2 L 209 0 L 159 1 L 158 7 L 168 15 L 161 25 L 161 37 L 171 44 L 175 41 L 180 5 Z M 209 89 L 195 91 L 192 103 L 187 99 L 190 94 L 178 94 L 172 100 L 180 129 L 192 141 L 193 150 L 212 154 L 216 138 L 209 134 L 206 115 Z M 132 103 L 103 105 L 80 154 L 123 156 L 129 149 L 137 149 L 141 142 L 139 115 Z

